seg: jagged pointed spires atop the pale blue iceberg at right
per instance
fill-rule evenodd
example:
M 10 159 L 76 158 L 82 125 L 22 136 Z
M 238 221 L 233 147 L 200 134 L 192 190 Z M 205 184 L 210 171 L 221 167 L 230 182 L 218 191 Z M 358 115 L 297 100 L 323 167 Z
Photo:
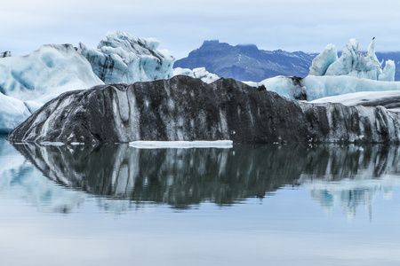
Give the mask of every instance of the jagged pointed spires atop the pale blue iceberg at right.
M 325 47 L 310 66 L 309 75 L 349 75 L 358 78 L 395 81 L 395 62 L 388 60 L 385 69 L 375 55 L 375 39 L 372 39 L 368 51 L 359 50 L 358 41 L 350 39 L 338 59 L 337 49 L 333 44 Z

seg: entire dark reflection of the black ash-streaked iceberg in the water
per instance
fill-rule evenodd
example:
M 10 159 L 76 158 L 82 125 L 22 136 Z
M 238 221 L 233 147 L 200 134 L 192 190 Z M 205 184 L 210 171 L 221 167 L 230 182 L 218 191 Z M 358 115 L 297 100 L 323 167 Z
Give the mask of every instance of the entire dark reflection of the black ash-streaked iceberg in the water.
M 110 198 L 189 207 L 264 197 L 285 184 L 398 172 L 385 145 L 234 145 L 232 149 L 136 149 L 129 145 L 16 145 L 44 176 Z

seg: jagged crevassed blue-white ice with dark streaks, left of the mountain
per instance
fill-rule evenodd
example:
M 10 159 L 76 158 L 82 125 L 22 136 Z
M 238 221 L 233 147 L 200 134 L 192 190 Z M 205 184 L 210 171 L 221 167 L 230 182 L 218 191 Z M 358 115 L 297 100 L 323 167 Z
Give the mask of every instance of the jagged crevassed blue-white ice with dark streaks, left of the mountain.
M 172 77 L 175 59 L 158 50 L 154 38 L 136 38 L 123 32 L 108 32 L 97 49 L 79 43 L 78 52 L 105 83 L 148 82 Z

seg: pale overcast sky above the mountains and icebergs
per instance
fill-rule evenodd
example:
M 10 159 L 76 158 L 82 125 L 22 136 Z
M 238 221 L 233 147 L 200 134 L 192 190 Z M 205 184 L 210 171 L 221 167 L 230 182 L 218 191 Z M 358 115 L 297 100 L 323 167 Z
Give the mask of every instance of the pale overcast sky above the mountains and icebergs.
M 255 43 L 263 50 L 400 51 L 400 1 L 350 0 L 12 0 L 0 5 L 0 51 L 13 56 L 44 43 L 96 47 L 108 31 L 155 37 L 177 59 L 204 40 Z

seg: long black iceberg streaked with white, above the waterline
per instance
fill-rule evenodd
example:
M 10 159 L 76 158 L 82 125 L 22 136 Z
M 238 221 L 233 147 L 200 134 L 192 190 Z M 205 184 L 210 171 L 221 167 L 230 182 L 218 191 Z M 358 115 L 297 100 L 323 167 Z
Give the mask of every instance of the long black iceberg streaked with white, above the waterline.
M 10 141 L 119 143 L 398 142 L 399 116 L 384 107 L 307 104 L 232 79 L 188 76 L 66 92 L 14 129 Z

